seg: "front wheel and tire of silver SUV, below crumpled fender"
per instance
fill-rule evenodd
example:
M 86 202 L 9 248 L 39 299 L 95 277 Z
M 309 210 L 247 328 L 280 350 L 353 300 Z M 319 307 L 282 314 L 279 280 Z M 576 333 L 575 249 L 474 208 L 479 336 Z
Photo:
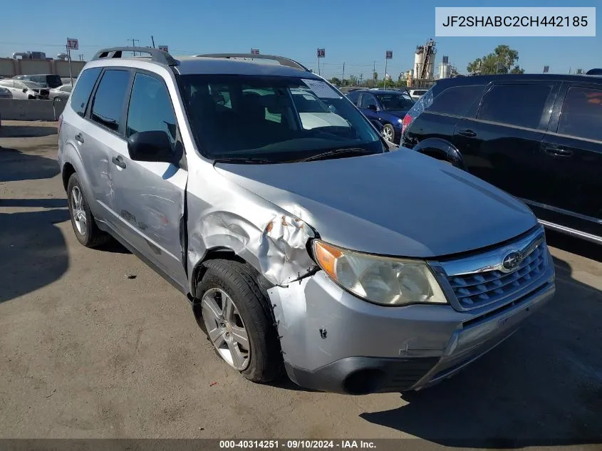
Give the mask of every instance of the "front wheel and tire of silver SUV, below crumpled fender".
M 194 313 L 215 351 L 256 383 L 283 373 L 278 333 L 267 294 L 246 264 L 210 260 L 197 286 Z

